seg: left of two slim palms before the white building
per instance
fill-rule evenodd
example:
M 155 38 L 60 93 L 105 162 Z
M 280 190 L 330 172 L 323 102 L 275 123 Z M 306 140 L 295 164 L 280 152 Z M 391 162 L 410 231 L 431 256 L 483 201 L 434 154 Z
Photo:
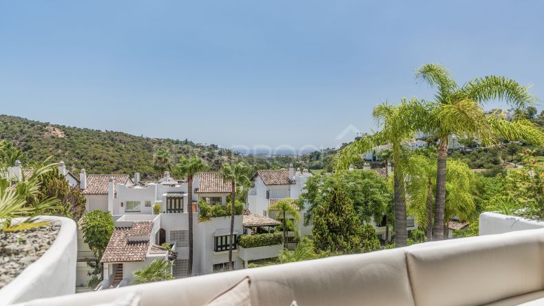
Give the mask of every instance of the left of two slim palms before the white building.
M 187 275 L 193 273 L 193 178 L 194 175 L 202 172 L 206 164 L 196 155 L 190 158 L 181 157 L 176 164 L 176 174 L 180 177 L 187 177 L 187 216 L 189 217 L 189 265 Z

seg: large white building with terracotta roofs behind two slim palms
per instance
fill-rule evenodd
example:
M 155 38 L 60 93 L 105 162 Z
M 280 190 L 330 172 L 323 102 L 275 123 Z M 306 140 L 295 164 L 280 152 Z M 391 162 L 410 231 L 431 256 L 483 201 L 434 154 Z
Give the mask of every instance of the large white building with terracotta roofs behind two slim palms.
M 153 183 L 140 182 L 140 174 L 134 179 L 129 175 L 87 175 L 81 171 L 81 188 L 87 199 L 87 210 L 109 211 L 114 216 L 116 229 L 102 258 L 107 272 L 102 287 L 127 285 L 134 270 L 149 265 L 156 258 L 169 258 L 174 263 L 176 278 L 187 275 L 189 262 L 189 216 L 188 186 L 186 180 L 164 177 Z M 231 184 L 225 183 L 220 173 L 200 173 L 193 181 L 193 270 L 192 275 L 220 272 L 228 267 L 230 217 L 211 217 L 199 220 L 197 201 L 204 199 L 209 205 L 226 205 Z M 160 207 L 154 213 L 154 205 Z M 236 215 L 234 230 L 233 267 L 235 270 L 246 266 L 247 261 L 276 256 L 281 244 L 244 250 L 244 259 L 238 256 L 236 241 L 244 232 L 244 218 Z M 269 226 L 277 222 L 265 217 L 260 224 L 249 223 L 251 227 Z M 249 226 L 248 226 L 249 228 Z M 85 285 L 89 276 L 86 261 L 96 260 L 86 243 L 83 243 L 81 226 L 79 231 L 79 260 L 77 285 Z M 172 251 L 160 245 L 169 243 Z M 278 248 L 279 247 L 279 248 Z M 266 251 L 265 250 L 265 251 Z M 274 250 L 273 253 L 270 250 Z M 264 256 L 264 257 L 263 257 Z

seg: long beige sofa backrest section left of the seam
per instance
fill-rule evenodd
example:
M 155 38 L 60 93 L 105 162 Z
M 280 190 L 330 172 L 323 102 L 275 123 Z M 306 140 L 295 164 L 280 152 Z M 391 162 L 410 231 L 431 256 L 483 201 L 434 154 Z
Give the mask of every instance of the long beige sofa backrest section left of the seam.
M 101 292 L 33 300 L 25 305 L 73 306 L 107 303 L 136 290 L 141 306 L 205 305 L 245 276 L 251 305 L 414 305 L 404 250 L 334 256 L 300 263 L 131 285 Z

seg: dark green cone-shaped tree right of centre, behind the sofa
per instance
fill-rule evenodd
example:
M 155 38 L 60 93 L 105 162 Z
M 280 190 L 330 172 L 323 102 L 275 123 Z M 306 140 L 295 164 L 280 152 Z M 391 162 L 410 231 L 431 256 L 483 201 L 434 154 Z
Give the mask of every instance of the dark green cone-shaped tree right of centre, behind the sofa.
M 361 250 L 362 223 L 353 202 L 339 185 L 313 210 L 312 237 L 316 250 L 353 253 Z M 378 241 L 379 243 L 379 241 Z

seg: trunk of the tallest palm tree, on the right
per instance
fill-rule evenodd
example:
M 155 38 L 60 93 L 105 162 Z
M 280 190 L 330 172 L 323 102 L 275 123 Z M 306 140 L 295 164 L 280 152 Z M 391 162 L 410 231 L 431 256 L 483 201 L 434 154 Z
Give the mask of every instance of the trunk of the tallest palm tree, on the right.
M 448 136 L 440 138 L 437 164 L 437 196 L 435 208 L 435 228 L 433 239 L 444 239 L 444 212 L 446 210 L 446 159 L 448 158 Z

